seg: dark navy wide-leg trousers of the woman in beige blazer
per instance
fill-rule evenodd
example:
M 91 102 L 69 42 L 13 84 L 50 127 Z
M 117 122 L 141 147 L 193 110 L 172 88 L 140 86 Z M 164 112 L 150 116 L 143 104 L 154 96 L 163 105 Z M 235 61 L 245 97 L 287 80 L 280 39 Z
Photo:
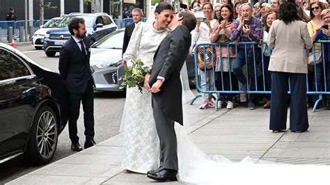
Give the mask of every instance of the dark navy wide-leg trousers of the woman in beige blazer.
M 272 72 L 269 129 L 286 129 L 289 81 L 291 90 L 290 130 L 306 131 L 309 127 L 306 106 L 306 74 L 290 72 Z

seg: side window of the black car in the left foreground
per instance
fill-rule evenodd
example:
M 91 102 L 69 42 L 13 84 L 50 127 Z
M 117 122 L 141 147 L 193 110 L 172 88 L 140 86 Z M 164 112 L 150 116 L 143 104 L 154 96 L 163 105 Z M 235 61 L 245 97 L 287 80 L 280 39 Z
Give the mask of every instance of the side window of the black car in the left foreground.
M 15 70 L 7 51 L 0 49 L 0 81 L 15 78 Z

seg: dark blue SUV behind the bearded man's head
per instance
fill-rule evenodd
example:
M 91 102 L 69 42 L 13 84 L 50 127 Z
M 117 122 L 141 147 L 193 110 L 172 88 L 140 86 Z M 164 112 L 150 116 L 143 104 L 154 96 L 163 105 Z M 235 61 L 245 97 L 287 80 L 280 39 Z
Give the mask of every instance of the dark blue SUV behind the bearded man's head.
M 55 56 L 56 52 L 61 51 L 61 47 L 70 39 L 68 23 L 73 17 L 85 19 L 86 37 L 91 41 L 91 45 L 118 29 L 107 13 L 70 13 L 57 24 L 56 28 L 47 31 L 44 40 L 44 50 L 47 56 Z

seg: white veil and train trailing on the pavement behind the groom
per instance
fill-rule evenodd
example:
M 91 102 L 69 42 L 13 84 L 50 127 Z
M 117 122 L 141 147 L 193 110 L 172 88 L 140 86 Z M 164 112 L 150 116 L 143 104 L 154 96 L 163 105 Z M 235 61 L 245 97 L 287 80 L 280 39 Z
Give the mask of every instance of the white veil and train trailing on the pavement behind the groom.
M 178 180 L 188 184 L 324 184 L 330 181 L 329 166 L 274 163 L 246 156 L 234 163 L 224 156 L 207 156 L 191 140 L 187 67 L 181 70 L 183 127 L 175 124 L 178 140 Z M 281 175 L 278 175 L 281 174 Z M 317 182 L 316 182 L 317 181 Z

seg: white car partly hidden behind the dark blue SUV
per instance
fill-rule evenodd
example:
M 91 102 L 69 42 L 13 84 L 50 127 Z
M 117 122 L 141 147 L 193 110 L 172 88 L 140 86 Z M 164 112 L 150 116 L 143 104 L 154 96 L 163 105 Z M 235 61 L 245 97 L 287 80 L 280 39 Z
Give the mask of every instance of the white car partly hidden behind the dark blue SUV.
M 53 19 L 50 19 L 47 21 L 44 25 L 40 26 L 40 29 L 38 29 L 32 36 L 32 46 L 36 49 L 42 49 L 44 46 L 44 38 L 47 31 L 50 29 L 53 29 L 56 27 L 58 22 L 61 21 L 61 17 L 54 17 Z

